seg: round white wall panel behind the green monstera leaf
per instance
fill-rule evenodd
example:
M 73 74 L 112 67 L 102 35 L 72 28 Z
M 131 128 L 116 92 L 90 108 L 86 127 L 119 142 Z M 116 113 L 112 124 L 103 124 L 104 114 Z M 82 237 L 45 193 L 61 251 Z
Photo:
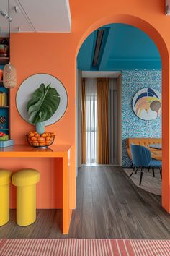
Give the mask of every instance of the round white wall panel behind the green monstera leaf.
M 68 105 L 68 95 L 66 89 L 64 88 L 62 82 L 56 77 L 53 77 L 50 74 L 33 74 L 32 76 L 28 77 L 22 82 L 17 91 L 16 103 L 19 114 L 25 121 L 30 122 L 28 121 L 27 103 L 32 97 L 32 93 L 34 93 L 42 83 L 45 84 L 45 86 L 50 84 L 52 88 L 57 90 L 61 98 L 60 104 L 57 111 L 55 111 L 55 114 L 53 114 L 50 119 L 45 121 L 45 126 L 47 126 L 54 124 L 56 121 L 61 119 L 61 117 L 66 112 Z

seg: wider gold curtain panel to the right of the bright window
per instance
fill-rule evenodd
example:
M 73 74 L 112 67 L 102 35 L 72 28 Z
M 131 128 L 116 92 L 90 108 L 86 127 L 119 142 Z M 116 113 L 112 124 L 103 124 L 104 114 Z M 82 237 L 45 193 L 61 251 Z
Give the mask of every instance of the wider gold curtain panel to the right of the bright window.
M 97 78 L 97 163 L 109 163 L 108 132 L 109 79 Z

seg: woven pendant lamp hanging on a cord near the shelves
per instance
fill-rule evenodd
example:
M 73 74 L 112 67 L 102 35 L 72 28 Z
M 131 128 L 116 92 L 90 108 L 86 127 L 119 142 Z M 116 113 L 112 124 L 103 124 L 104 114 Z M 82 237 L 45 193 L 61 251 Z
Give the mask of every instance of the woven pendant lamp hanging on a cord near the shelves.
M 17 70 L 10 62 L 10 12 L 9 12 L 9 0 L 8 0 L 8 27 L 9 27 L 9 64 L 6 64 L 3 72 L 3 83 L 5 88 L 14 88 L 17 85 Z

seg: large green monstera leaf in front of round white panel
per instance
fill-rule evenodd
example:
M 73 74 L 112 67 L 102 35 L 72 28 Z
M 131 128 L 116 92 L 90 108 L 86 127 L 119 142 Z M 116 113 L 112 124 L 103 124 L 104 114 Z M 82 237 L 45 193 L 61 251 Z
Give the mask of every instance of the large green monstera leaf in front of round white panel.
M 51 88 L 50 84 L 47 87 L 41 84 L 27 103 L 29 121 L 32 124 L 47 121 L 58 109 L 60 101 L 60 95 L 55 88 Z

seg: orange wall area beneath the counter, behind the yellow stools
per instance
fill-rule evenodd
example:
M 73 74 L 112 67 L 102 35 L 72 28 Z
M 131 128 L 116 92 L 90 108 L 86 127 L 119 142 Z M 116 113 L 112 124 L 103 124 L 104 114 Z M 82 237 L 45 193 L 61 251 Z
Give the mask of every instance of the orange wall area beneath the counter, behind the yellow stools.
M 14 173 L 22 168 L 35 168 L 40 171 L 40 182 L 37 183 L 37 208 L 62 208 L 62 174 L 61 158 L 8 158 L 7 166 Z M 1 168 L 6 168 L 6 159 L 1 160 Z M 58 180 L 61 181 L 58 184 Z M 10 205 L 16 208 L 16 187 L 10 185 Z

